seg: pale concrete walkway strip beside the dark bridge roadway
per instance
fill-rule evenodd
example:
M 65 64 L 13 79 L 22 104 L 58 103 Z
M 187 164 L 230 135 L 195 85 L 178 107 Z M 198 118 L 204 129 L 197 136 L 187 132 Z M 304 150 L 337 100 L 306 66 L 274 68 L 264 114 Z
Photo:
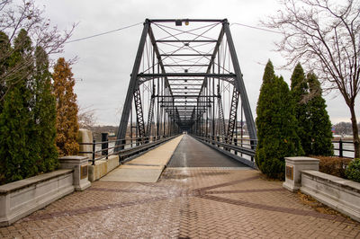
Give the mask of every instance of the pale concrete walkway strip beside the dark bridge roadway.
M 120 165 L 100 181 L 157 182 L 182 138 L 183 135 L 175 137 L 164 145 Z

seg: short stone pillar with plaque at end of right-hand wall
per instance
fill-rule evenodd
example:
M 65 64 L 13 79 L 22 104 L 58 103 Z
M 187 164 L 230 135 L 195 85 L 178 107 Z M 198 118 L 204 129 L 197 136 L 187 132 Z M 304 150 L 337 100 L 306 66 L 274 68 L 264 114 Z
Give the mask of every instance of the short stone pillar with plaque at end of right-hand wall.
M 296 191 L 302 186 L 302 170 L 319 171 L 319 159 L 311 157 L 285 157 L 285 181 L 283 187 Z

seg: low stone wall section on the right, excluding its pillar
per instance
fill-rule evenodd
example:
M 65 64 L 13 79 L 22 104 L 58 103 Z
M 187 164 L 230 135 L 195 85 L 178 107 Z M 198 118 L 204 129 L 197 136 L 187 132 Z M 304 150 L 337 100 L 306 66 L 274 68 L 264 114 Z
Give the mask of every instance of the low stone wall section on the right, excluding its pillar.
M 300 190 L 360 222 L 360 183 L 327 173 L 303 170 Z

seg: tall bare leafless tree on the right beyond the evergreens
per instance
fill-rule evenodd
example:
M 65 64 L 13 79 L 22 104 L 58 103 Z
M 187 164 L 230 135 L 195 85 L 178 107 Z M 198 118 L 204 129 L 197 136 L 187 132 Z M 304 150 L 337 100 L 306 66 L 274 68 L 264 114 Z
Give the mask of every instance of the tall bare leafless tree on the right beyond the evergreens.
M 359 0 L 283 0 L 283 8 L 262 23 L 281 31 L 277 50 L 287 66 L 297 62 L 319 75 L 324 89 L 337 89 L 351 113 L 355 157 L 360 141 L 355 102 L 360 82 Z

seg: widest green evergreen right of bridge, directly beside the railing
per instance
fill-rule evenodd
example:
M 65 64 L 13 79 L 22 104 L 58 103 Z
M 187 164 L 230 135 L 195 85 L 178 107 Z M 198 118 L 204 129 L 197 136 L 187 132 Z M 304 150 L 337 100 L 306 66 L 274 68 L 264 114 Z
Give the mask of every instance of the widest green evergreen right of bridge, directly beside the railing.
M 271 178 L 284 179 L 285 156 L 303 155 L 296 134 L 293 101 L 283 77 L 269 60 L 257 101 L 257 166 Z

